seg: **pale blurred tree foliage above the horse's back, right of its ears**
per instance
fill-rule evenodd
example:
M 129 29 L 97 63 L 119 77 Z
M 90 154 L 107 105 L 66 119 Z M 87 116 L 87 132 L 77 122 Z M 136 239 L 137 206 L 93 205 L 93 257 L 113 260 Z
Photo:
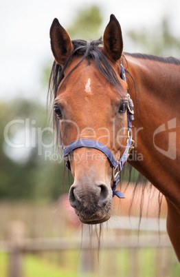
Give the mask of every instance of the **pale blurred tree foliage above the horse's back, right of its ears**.
M 131 30 L 128 32 L 128 37 L 135 49 L 138 45 L 142 52 L 163 57 L 170 55 L 180 57 L 180 39 L 172 34 L 168 18 L 164 18 L 161 25 L 150 30 L 144 28 Z

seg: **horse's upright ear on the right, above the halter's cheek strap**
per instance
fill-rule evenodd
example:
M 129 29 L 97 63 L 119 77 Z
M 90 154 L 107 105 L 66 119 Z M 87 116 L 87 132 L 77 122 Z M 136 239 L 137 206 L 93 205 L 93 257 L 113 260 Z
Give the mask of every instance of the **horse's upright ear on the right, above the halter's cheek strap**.
M 123 50 L 122 31 L 120 23 L 113 14 L 111 14 L 110 21 L 104 30 L 103 43 L 104 54 L 111 61 L 120 59 Z

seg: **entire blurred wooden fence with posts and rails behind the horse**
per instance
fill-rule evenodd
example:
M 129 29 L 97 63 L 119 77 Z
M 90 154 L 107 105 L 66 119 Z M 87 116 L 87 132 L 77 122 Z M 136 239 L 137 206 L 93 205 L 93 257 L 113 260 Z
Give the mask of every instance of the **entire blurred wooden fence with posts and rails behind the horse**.
M 103 251 L 104 249 L 108 249 L 111 253 L 113 253 L 115 249 L 117 249 L 117 251 L 118 249 L 128 249 L 131 259 L 131 271 L 128 276 L 139 277 L 138 270 L 135 270 L 137 268 L 137 252 L 139 249 L 157 249 L 158 247 L 158 249 L 166 249 L 166 253 L 173 253 L 172 245 L 165 232 L 165 219 L 160 220 L 158 223 L 157 218 L 148 218 L 148 220 L 147 218 L 142 218 L 141 225 L 138 227 L 138 218 L 115 217 L 109 220 L 109 226 L 111 227 L 111 230 L 113 229 L 115 232 L 113 236 L 110 235 L 108 236 L 108 239 L 103 240 L 102 249 Z M 140 232 L 139 239 L 137 232 L 136 234 L 134 232 L 131 236 L 127 234 L 126 231 L 130 229 Z M 122 232 L 122 230 L 125 231 Z M 89 238 L 87 238 L 87 236 L 83 237 L 83 239 L 81 235 L 68 238 L 26 238 L 25 224 L 21 221 L 14 221 L 10 223 L 8 227 L 7 240 L 0 242 L 0 251 L 8 253 L 9 256 L 7 276 L 24 277 L 23 265 L 26 254 L 39 254 L 43 252 L 64 253 L 78 249 L 81 249 L 82 252 L 82 258 L 79 260 L 81 267 L 80 276 L 86 276 L 85 273 L 92 270 L 92 263 L 90 263 L 90 261 L 94 260 L 94 258 L 91 257 L 92 254 L 94 255 L 93 250 L 96 250 L 97 252 L 99 247 L 97 237 L 95 237 L 95 232 L 92 232 L 91 234 L 91 251 L 89 252 Z M 162 270 L 166 272 L 166 274 L 168 274 L 168 264 L 170 263 L 169 256 L 166 256 L 166 260 L 164 261 L 164 264 L 167 265 L 167 267 L 162 267 Z M 159 260 L 157 260 L 157 266 L 158 265 Z M 157 276 L 170 276 L 166 274 L 164 275 L 160 270 Z

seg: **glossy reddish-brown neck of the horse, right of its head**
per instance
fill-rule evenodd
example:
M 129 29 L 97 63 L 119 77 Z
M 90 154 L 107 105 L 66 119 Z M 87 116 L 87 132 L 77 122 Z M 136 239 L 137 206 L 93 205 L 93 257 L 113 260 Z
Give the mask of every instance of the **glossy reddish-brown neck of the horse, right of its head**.
M 180 189 L 180 65 L 126 59 L 126 69 L 136 86 L 135 90 L 129 76 L 128 88 L 135 104 L 135 150 L 129 163 L 174 200 Z

